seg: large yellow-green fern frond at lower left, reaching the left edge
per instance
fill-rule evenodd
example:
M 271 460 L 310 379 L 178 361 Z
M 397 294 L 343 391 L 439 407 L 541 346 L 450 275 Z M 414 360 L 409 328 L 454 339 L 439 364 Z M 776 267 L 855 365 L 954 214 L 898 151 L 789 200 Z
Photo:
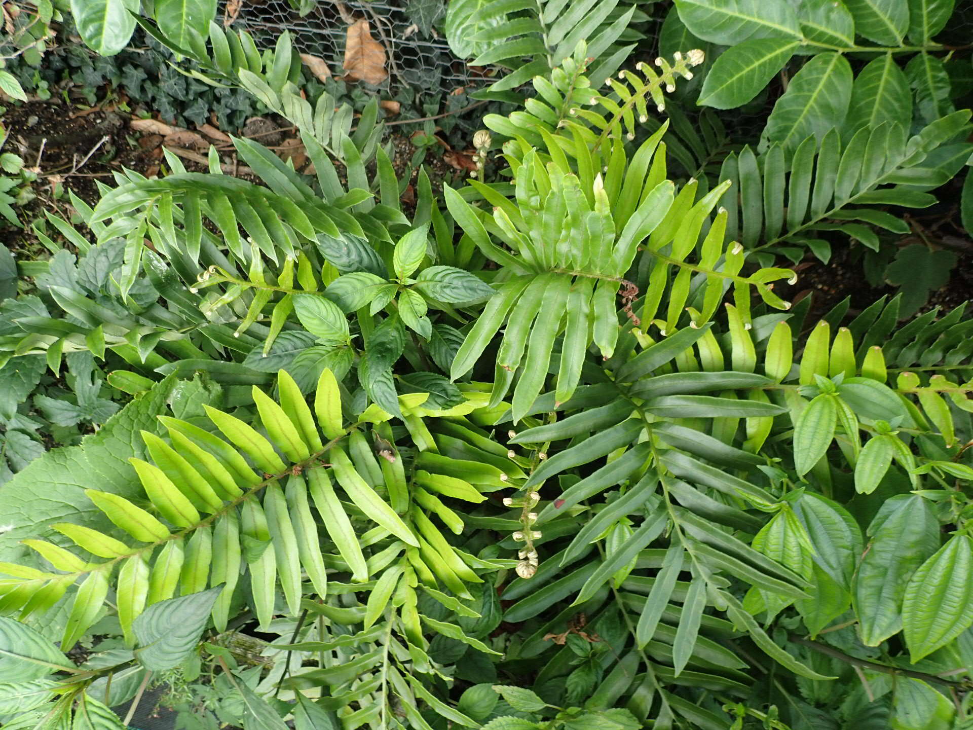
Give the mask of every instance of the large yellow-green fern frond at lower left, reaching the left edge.
M 373 408 L 358 423 L 343 424 L 341 396 L 330 371 L 321 377 L 313 412 L 286 372 L 280 373 L 277 384 L 279 401 L 253 387 L 259 430 L 209 407 L 209 420 L 222 438 L 190 422 L 161 417 L 168 442 L 143 433 L 152 461 L 130 459 L 146 500 L 136 503 L 115 493 L 88 491 L 120 530 L 121 539 L 62 524 L 54 529 L 81 555 L 43 540 L 27 541 L 54 570 L 63 572 L 0 566 L 0 572 L 11 576 L 0 585 L 4 612 L 24 617 L 47 610 L 80 580 L 62 641 L 69 648 L 88 631 L 109 588 L 114 588 L 119 619 L 131 644 L 132 626 L 149 605 L 177 593 L 186 596 L 222 586 L 212 615 L 223 631 L 241 565 L 247 567 L 261 625 L 275 613 L 278 586 L 288 610 L 296 615 L 308 590 L 305 581 L 312 595 L 329 595 L 329 571 L 349 573 L 366 590 L 373 578 L 396 584 L 409 566 L 430 590 L 445 585 L 453 595 L 471 598 L 466 585 L 481 582 L 473 567 L 482 562 L 453 548 L 434 523 L 452 531 L 462 529 L 462 519 L 442 499 L 476 503 L 485 497 L 473 485 L 506 486 L 518 480 L 495 465 L 436 454 L 431 439 L 426 447 L 431 451 L 416 455 L 414 473 L 407 475 L 391 430 L 382 425 L 387 415 Z M 424 400 L 424 394 L 403 396 L 413 429 L 425 429 L 423 415 L 430 411 L 421 408 Z M 482 399 L 473 401 L 479 402 Z M 381 459 L 361 431 L 368 422 L 375 423 L 371 430 L 382 445 Z M 477 449 L 450 451 L 474 456 Z M 508 471 L 523 476 L 514 463 Z M 388 493 L 394 508 L 378 491 Z M 411 495 L 419 493 L 424 496 L 413 502 Z M 359 533 L 362 519 L 375 526 L 365 537 Z M 324 526 L 323 534 L 318 525 Z M 370 546 L 373 554 L 367 557 Z M 87 554 L 104 560 L 81 557 Z M 389 569 L 396 572 L 382 577 Z M 381 594 L 375 607 L 370 601 L 372 622 L 378 617 L 374 611 L 383 610 L 389 599 L 390 592 Z

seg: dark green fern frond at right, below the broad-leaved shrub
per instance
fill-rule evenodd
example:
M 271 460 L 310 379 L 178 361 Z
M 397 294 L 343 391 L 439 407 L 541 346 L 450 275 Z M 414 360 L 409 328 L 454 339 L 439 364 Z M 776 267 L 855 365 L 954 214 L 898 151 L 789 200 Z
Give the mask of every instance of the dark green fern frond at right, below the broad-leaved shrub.
M 827 232 L 837 231 L 877 250 L 873 227 L 896 234 L 910 229 L 873 206 L 933 204 L 924 191 L 949 180 L 973 150 L 955 141 L 969 118 L 968 110 L 955 112 L 908 138 L 896 123 L 861 128 L 844 148 L 832 129 L 820 140 L 805 139 L 789 159 L 779 144 L 759 159 L 744 148 L 726 159 L 720 174 L 739 190 L 724 202 L 728 236 L 747 248 L 776 250 L 792 241 L 821 251 Z

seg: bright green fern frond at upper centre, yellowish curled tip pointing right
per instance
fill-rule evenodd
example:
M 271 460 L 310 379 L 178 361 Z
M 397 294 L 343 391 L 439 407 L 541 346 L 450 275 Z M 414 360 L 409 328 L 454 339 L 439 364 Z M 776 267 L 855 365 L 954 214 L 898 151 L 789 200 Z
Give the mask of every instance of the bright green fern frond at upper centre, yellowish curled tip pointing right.
M 620 330 L 615 298 L 624 286 L 626 309 L 631 311 L 638 290 L 627 277 L 640 246 L 643 254 L 634 278 L 648 292 L 636 309 L 644 327 L 656 316 L 673 270 L 678 274 L 669 293 L 666 331 L 683 315 L 693 274 L 705 278 L 697 293 L 703 298 L 703 311 L 694 316 L 695 326 L 712 316 L 725 283 L 733 283 L 744 315 L 752 288 L 770 304 L 787 306 L 769 284 L 791 272 L 768 269 L 740 275 L 740 247 L 724 249 L 726 214 L 718 214 L 715 221 L 709 215 L 726 185 L 699 201 L 695 181 L 675 195 L 674 186 L 666 180 L 665 146 L 659 143 L 664 131 L 646 140 L 631 162 L 622 143 L 615 140 L 604 175 L 595 172 L 602 157 L 589 149 L 580 134 L 564 148 L 550 138 L 550 162 L 546 164 L 548 156 L 533 149 L 523 157 L 508 156 L 515 174 L 517 205 L 485 185 L 472 183 L 486 201 L 496 205 L 492 219 L 447 189 L 452 217 L 511 276 L 467 336 L 453 361 L 452 376 L 459 377 L 473 367 L 506 321 L 492 403 L 499 403 L 515 376 L 522 373 L 514 390 L 515 420 L 527 413 L 543 388 L 562 329 L 557 402 L 571 397 L 593 342 L 602 357 L 612 356 Z M 568 162 L 568 154 L 577 172 Z M 701 242 L 706 227 L 709 231 Z M 493 243 L 491 236 L 516 255 Z M 698 247 L 699 260 L 690 263 L 687 259 Z

